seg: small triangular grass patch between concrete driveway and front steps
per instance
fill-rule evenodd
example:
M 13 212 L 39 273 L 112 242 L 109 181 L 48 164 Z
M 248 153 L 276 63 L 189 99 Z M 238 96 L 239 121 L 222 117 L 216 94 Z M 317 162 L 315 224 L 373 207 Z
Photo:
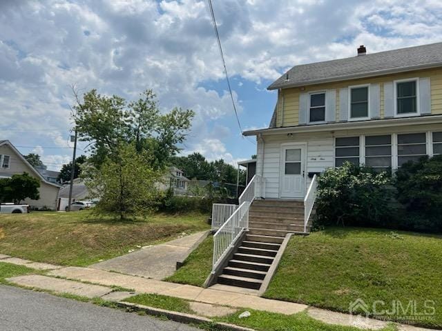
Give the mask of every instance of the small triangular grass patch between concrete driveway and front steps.
M 165 280 L 195 286 L 204 285 L 212 270 L 212 256 L 213 237 L 209 236 L 187 257 L 184 265 Z

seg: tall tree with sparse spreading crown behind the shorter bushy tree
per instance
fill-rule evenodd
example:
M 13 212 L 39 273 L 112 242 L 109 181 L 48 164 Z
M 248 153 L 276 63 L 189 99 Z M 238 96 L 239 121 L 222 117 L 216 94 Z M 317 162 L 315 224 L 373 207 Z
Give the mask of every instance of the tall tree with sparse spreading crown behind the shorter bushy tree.
M 178 145 L 191 128 L 194 115 L 192 110 L 181 108 L 162 114 L 152 90 L 129 103 L 91 90 L 74 109 L 79 137 L 90 143 L 91 161 L 97 168 L 106 157 L 115 156 L 122 143 L 133 143 L 137 153 L 151 155 L 155 169 L 163 168 L 180 150 Z

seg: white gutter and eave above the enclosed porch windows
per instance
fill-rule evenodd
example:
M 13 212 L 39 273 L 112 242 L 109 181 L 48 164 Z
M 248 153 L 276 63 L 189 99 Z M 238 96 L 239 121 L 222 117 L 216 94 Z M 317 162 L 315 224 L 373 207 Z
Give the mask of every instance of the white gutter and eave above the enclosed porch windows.
M 325 132 L 334 130 L 353 130 L 353 129 L 371 129 L 371 128 L 385 128 L 390 126 L 408 126 L 410 124 L 436 124 L 442 123 L 442 115 L 429 115 L 421 117 L 406 117 L 396 119 L 372 119 L 369 121 L 352 121 L 352 122 L 337 122 L 325 123 L 309 126 L 289 126 L 285 128 L 265 128 L 258 130 L 244 131 L 244 136 L 257 136 L 264 134 L 287 134 L 287 133 L 302 133 L 302 132 Z

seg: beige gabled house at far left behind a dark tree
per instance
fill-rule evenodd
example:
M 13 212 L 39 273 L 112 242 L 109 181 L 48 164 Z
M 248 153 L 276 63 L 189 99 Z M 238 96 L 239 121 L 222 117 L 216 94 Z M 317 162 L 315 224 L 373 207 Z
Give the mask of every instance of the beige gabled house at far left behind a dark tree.
M 47 181 L 32 165 L 21 155 L 8 140 L 0 141 L 0 177 L 8 178 L 13 174 L 23 174 L 28 172 L 30 176 L 39 179 L 40 181 L 40 199 L 31 200 L 26 199 L 27 203 L 34 208 L 50 208 L 55 210 L 57 208 L 57 199 L 60 186 L 56 183 Z

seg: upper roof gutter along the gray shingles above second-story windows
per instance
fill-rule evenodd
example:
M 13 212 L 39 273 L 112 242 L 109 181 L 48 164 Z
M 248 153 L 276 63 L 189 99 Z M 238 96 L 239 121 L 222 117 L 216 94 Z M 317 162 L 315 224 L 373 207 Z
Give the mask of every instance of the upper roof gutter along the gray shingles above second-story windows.
M 300 86 L 309 86 L 309 85 L 316 85 L 321 83 L 333 83 L 336 81 L 349 81 L 352 79 L 359 79 L 359 78 L 369 78 L 369 77 L 376 77 L 381 76 L 385 74 L 398 74 L 401 72 L 410 72 L 414 70 L 423 70 L 423 69 L 432 69 L 432 68 L 438 68 L 442 66 L 442 62 L 435 62 L 435 63 L 429 63 L 429 64 L 421 64 L 419 66 L 410 66 L 407 68 L 393 68 L 393 69 L 386 69 L 386 70 L 377 70 L 372 72 L 363 72 L 360 74 L 348 74 L 345 76 L 336 76 L 336 77 L 328 77 L 326 79 L 316 79 L 314 81 L 297 81 L 294 83 L 272 83 L 271 86 L 267 88 L 267 90 L 277 90 L 278 88 L 297 88 Z

